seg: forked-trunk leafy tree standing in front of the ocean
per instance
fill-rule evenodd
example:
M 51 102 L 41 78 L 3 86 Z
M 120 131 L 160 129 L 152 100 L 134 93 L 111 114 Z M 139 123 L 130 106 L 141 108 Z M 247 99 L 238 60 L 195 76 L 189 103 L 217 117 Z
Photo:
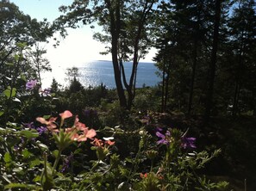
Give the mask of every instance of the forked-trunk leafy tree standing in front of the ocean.
M 55 26 L 61 28 L 64 35 L 66 27 L 76 28 L 78 22 L 97 22 L 103 27 L 104 34 L 96 34 L 95 38 L 110 44 L 106 53 L 112 55 L 116 90 L 122 108 L 132 107 L 137 67 L 149 47 L 147 19 L 152 14 L 154 3 L 155 0 L 74 1 L 70 6 L 59 8 L 65 15 L 55 21 Z M 123 67 L 125 61 L 133 63 L 128 79 Z

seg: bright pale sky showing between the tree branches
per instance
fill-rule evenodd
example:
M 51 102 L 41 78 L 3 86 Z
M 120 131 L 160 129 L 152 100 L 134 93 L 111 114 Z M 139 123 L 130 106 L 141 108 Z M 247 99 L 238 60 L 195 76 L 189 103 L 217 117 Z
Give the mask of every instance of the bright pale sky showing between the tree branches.
M 61 14 L 59 6 L 69 5 L 72 0 L 9 0 L 9 2 L 15 3 L 24 14 L 30 15 L 38 21 L 47 18 L 48 22 L 53 22 Z M 59 65 L 72 67 L 92 60 L 111 60 L 110 54 L 99 54 L 104 51 L 105 45 L 92 39 L 94 31 L 95 29 L 91 29 L 90 26 L 70 28 L 68 36 L 66 39 L 60 40 L 60 45 L 57 48 L 53 47 L 53 39 L 49 40 L 49 44 L 41 44 L 47 50 L 46 58 L 52 67 Z M 153 62 L 154 52 L 154 50 L 150 51 L 147 57 L 140 61 Z

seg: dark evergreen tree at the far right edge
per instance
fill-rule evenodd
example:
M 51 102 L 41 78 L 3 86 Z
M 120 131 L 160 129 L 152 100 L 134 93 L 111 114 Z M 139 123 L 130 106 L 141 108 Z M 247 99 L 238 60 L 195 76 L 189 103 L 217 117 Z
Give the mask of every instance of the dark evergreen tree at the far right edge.
M 233 71 L 234 71 L 234 99 L 233 114 L 237 114 L 241 101 L 242 89 L 248 90 L 255 95 L 255 85 L 250 82 L 253 77 L 253 65 L 255 65 L 256 43 L 256 14 L 255 2 L 252 0 L 238 1 L 235 4 L 233 14 L 228 22 L 229 44 L 232 48 Z M 253 88 L 254 87 L 254 88 Z M 251 99 L 254 99 L 253 96 Z M 255 103 L 251 102 L 251 106 Z M 253 108 L 253 107 L 252 107 Z

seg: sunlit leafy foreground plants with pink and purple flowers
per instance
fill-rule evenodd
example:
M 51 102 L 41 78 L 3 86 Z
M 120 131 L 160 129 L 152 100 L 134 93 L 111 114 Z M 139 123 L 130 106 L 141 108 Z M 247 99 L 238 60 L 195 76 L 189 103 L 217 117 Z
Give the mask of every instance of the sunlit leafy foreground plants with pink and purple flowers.
M 2 96 L 22 100 L 16 105 L 22 114 L 1 123 L 1 189 L 224 190 L 228 186 L 200 173 L 220 151 L 197 151 L 189 129 L 153 127 L 149 115 L 128 116 L 129 112 L 119 114 L 122 119 L 113 113 L 116 124 L 122 121 L 119 126 L 98 123 L 91 128 L 69 110 L 56 112 L 54 94 L 38 85 L 28 80 L 27 94 L 5 91 Z M 29 107 L 39 101 L 38 108 Z M 34 109 L 37 116 L 29 114 Z M 95 114 L 84 110 L 87 118 L 82 119 Z

